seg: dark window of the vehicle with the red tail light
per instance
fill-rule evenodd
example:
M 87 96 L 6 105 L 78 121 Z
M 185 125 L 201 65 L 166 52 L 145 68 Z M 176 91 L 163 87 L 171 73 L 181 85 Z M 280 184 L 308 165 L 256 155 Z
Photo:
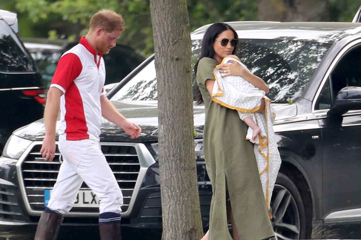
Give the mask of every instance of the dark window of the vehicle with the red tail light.
M 13 35 L 15 34 L 10 31 L 12 31 L 11 28 L 0 21 L 0 71 L 34 72 L 34 63 L 14 41 Z

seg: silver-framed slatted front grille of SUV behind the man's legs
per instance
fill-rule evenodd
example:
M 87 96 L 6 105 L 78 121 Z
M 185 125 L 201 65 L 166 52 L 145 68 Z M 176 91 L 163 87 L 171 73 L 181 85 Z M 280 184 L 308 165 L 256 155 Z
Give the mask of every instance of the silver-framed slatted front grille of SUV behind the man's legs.
M 23 198 L 30 213 L 41 213 L 45 209 L 44 190 L 53 188 L 60 168 L 58 148 L 52 162 L 45 162 L 40 154 L 41 144 L 34 142 L 17 164 Z M 136 196 L 147 167 L 155 160 L 144 144 L 101 143 L 101 149 L 123 193 L 122 215 L 127 215 L 134 201 L 132 196 Z M 81 189 L 88 190 L 89 187 L 83 183 Z M 73 207 L 69 215 L 96 215 L 98 212 L 97 207 Z

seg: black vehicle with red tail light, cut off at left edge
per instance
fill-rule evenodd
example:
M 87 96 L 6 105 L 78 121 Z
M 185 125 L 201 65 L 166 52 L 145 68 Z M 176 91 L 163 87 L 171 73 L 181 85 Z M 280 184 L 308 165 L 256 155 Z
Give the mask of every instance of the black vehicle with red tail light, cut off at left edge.
M 43 116 L 42 78 L 16 36 L 17 15 L 0 10 L 0 153 L 11 132 Z

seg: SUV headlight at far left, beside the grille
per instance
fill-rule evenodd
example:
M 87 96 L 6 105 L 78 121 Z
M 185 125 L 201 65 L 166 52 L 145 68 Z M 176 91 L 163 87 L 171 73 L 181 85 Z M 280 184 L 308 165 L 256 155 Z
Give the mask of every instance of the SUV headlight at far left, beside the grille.
M 3 156 L 8 158 L 19 159 L 21 154 L 29 147 L 31 140 L 11 135 L 5 144 Z

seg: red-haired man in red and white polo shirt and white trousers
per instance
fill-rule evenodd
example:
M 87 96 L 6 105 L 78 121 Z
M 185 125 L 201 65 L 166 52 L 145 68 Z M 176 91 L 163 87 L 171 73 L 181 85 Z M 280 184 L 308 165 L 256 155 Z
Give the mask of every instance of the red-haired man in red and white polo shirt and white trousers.
M 46 161 L 55 154 L 55 128 L 60 109 L 59 150 L 63 159 L 51 198 L 39 219 L 35 239 L 56 239 L 83 181 L 99 200 L 101 239 L 121 239 L 123 195 L 101 152 L 101 116 L 122 127 L 131 138 L 141 129 L 118 113 L 105 97 L 103 54 L 116 45 L 124 30 L 121 15 L 100 10 L 79 44 L 65 52 L 53 76 L 44 110 L 45 138 L 40 152 Z

